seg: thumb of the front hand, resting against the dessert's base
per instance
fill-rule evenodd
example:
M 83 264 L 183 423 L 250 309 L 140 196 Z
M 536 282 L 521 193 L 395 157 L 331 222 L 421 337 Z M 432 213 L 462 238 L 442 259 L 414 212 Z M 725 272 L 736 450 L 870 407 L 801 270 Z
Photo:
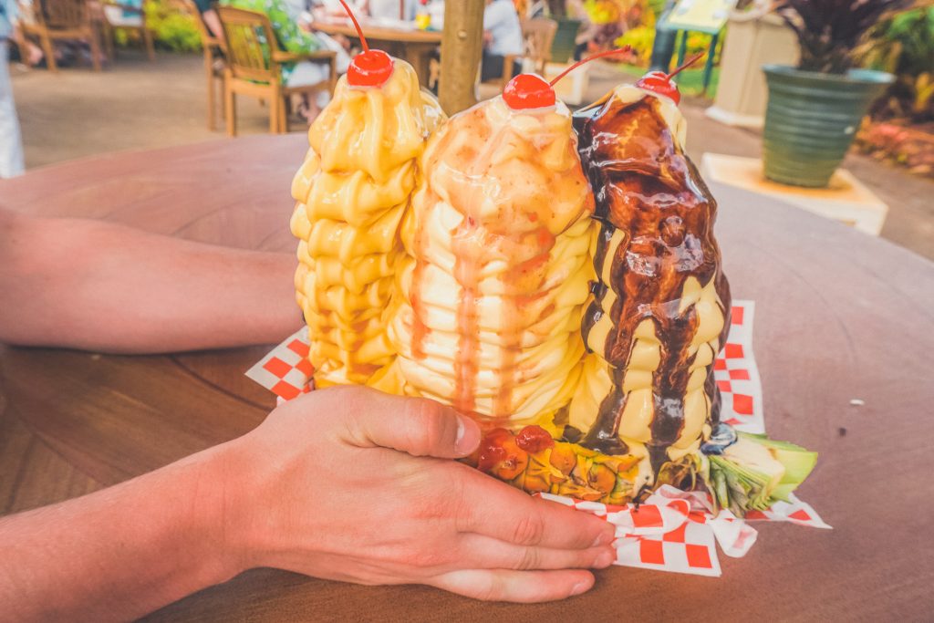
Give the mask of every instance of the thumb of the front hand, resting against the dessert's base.
M 325 389 L 324 391 L 334 391 Z M 416 457 L 459 459 L 480 443 L 474 420 L 425 398 L 390 396 L 375 389 L 340 388 L 335 407 L 355 446 L 390 447 Z

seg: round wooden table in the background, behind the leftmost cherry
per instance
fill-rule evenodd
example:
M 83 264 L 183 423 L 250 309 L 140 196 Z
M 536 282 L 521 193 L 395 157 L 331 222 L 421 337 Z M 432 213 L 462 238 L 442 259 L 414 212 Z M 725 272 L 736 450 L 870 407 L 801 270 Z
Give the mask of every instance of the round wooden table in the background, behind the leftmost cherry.
M 360 24 L 370 46 L 386 50 L 389 54 L 407 61 L 415 67 L 421 85 L 428 86 L 432 51 L 441 45 L 440 31 L 418 30 L 414 26 L 412 28 L 393 27 L 362 18 Z M 316 18 L 311 27 L 328 35 L 360 38 L 357 30 L 347 18 Z

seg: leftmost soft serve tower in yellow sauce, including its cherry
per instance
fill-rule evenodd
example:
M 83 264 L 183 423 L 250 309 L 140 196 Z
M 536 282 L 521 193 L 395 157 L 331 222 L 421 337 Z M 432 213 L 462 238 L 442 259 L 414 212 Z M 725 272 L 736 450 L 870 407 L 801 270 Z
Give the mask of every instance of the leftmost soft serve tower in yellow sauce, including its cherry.
M 366 384 L 394 357 L 389 303 L 417 159 L 444 114 L 411 65 L 367 50 L 308 131 L 292 181 L 298 303 L 318 387 Z

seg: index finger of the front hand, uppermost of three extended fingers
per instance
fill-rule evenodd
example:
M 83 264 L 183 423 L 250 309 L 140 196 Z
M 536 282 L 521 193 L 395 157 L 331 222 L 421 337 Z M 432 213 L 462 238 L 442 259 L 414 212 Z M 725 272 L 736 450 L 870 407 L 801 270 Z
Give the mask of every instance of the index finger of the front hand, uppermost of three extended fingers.
M 531 498 L 494 478 L 463 471 L 463 500 L 456 517 L 462 532 L 516 545 L 585 549 L 613 542 L 616 529 L 600 517 Z

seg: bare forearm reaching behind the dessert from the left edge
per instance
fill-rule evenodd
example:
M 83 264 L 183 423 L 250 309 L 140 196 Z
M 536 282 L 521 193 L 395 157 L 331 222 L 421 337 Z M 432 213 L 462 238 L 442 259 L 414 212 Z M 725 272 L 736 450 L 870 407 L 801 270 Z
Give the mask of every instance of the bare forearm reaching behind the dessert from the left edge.
M 0 208 L 0 342 L 169 352 L 278 342 L 301 326 L 289 254 Z

